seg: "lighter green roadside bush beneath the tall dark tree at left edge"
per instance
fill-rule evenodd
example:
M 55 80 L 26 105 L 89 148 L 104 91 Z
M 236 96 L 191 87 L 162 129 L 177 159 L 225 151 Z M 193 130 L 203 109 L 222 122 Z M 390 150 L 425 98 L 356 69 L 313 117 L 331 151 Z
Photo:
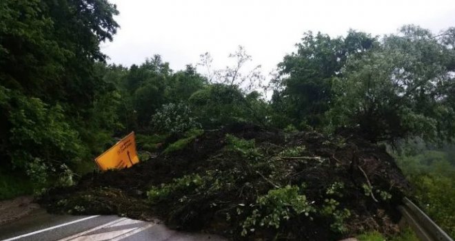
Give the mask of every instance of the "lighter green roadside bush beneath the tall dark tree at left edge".
M 14 169 L 26 171 L 37 188 L 58 179 L 63 169 L 77 165 L 78 157 L 86 155 L 60 105 L 50 106 L 3 87 L 0 96 L 2 114 L 10 126 L 9 143 L 1 151 L 8 155 Z

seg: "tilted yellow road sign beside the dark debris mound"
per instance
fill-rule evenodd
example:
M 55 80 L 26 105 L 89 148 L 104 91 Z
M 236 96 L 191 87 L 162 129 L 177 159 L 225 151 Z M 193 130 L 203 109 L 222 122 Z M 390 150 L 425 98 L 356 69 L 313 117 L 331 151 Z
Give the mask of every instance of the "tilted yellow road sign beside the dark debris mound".
M 95 161 L 103 171 L 108 169 L 122 169 L 139 163 L 134 132 L 131 132 L 117 144 L 110 147 L 110 149 L 104 151 L 103 154 L 95 158 Z

